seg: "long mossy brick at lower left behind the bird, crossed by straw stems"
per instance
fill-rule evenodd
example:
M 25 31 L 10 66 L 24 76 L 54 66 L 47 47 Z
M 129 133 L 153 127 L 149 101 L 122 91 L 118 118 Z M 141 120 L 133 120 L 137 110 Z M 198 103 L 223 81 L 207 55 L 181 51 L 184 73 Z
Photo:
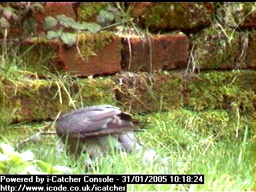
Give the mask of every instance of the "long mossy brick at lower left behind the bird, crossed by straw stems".
M 59 112 L 88 105 L 115 105 L 113 81 L 105 79 L 2 79 L 1 109 L 11 122 L 55 119 Z M 6 115 L 6 114 L 5 114 Z

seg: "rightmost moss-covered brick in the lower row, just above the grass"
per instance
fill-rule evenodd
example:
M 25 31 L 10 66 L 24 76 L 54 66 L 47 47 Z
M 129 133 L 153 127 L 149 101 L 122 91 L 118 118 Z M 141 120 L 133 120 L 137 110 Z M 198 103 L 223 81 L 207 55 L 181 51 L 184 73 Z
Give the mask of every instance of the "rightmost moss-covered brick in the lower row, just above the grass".
M 252 70 L 211 71 L 187 77 L 184 106 L 195 111 L 226 109 L 253 113 L 255 76 Z

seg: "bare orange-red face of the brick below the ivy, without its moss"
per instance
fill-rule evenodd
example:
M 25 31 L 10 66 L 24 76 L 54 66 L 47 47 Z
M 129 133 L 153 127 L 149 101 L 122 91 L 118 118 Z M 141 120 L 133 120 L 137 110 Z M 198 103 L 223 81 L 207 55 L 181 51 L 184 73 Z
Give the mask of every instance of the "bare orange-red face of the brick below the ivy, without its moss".
M 62 69 L 75 75 L 104 75 L 121 71 L 120 37 L 114 37 L 113 41 L 106 43 L 97 51 L 97 55 L 89 56 L 87 59 L 81 57 L 75 45 L 67 48 L 60 44 L 57 52 L 57 63 Z

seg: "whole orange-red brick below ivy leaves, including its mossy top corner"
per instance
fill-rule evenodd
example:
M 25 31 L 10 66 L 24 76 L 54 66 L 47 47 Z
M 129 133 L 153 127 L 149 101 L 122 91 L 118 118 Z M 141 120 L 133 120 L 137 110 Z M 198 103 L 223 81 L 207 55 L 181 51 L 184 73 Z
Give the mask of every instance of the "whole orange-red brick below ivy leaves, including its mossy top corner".
M 77 46 L 59 44 L 58 68 L 74 75 L 105 75 L 121 71 L 121 38 L 111 32 L 78 34 Z

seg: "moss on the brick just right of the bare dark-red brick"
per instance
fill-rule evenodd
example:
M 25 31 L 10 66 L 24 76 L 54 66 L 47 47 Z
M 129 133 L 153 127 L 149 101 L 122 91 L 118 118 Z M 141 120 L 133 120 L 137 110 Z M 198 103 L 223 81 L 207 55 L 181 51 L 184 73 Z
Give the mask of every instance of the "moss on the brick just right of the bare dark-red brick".
M 227 36 L 226 36 L 227 35 Z M 199 69 L 235 69 L 240 53 L 239 32 L 217 26 L 203 29 L 192 39 L 195 44 L 194 59 Z

